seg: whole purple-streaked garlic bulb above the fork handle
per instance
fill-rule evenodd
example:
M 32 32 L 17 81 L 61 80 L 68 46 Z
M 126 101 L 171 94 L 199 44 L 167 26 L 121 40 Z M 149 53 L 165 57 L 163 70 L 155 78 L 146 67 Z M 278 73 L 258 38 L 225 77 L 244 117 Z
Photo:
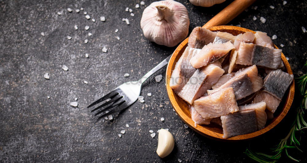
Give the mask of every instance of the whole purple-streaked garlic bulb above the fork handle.
M 151 3 L 141 19 L 144 36 L 168 47 L 177 45 L 188 36 L 189 25 L 188 10 L 173 0 Z

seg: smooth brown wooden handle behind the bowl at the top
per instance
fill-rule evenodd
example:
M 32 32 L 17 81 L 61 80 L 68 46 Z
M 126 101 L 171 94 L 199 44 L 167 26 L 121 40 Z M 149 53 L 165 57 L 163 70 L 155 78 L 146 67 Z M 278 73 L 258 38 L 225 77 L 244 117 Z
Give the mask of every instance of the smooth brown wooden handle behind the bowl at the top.
M 203 28 L 209 28 L 217 25 L 226 25 L 242 13 L 247 7 L 251 6 L 256 0 L 235 0 L 229 4 L 225 9 L 216 14 L 211 20 L 209 20 Z

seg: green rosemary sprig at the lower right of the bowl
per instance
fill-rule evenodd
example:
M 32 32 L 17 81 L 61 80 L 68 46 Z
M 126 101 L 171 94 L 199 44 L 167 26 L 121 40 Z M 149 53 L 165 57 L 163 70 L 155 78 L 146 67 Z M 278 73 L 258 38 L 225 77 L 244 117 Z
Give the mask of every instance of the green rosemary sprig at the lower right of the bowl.
M 305 66 L 307 66 L 307 62 Z M 272 155 L 253 152 L 250 148 L 247 148 L 244 153 L 247 154 L 247 156 L 251 159 L 261 163 L 274 163 L 282 157 L 282 153 L 285 153 L 291 160 L 299 162 L 299 160 L 290 156 L 288 150 L 297 149 L 298 151 L 303 152 L 298 148 L 298 146 L 300 146 L 300 142 L 296 135 L 301 135 L 301 133 L 304 133 L 302 129 L 307 128 L 307 123 L 304 120 L 304 114 L 307 108 L 307 74 L 296 78 L 295 82 L 297 83 L 297 88 L 300 92 L 300 96 L 297 97 L 297 99 L 301 101 L 301 104 L 296 109 L 296 117 L 291 126 L 290 132 L 279 142 L 275 148 L 271 149 Z

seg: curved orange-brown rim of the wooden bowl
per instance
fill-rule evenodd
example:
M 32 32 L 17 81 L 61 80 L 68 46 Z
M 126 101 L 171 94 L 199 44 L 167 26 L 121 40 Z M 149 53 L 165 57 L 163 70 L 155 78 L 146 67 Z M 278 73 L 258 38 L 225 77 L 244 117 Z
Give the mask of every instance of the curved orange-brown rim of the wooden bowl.
M 214 27 L 209 27 L 207 28 L 211 31 L 222 31 L 222 30 L 239 30 L 241 32 L 252 32 L 252 33 L 256 33 L 255 31 L 252 31 L 250 29 L 246 29 L 246 28 L 242 28 L 242 27 L 237 27 L 237 26 L 228 26 L 228 25 L 220 25 L 220 26 L 214 26 Z M 170 82 L 170 77 L 171 77 L 171 73 L 173 71 L 173 68 L 175 67 L 175 64 L 177 62 L 176 58 L 179 59 L 180 57 L 177 57 L 179 52 L 184 50 L 187 47 L 187 43 L 188 43 L 188 38 L 186 38 L 184 41 L 181 42 L 181 44 L 176 48 L 176 50 L 173 52 L 169 63 L 167 65 L 166 68 L 166 89 L 167 89 L 167 94 L 169 96 L 169 100 L 174 108 L 174 110 L 176 111 L 177 115 L 181 118 L 181 120 L 187 124 L 191 129 L 193 129 L 194 131 L 196 131 L 197 133 L 208 137 L 208 138 L 212 138 L 215 140 L 221 140 L 221 141 L 239 141 L 239 140 L 248 140 L 251 138 L 256 138 L 264 133 L 266 133 L 267 131 L 271 130 L 272 128 L 274 128 L 279 122 L 281 122 L 281 120 L 286 116 L 286 114 L 288 113 L 292 102 L 293 102 L 293 97 L 294 97 L 294 90 L 295 90 L 295 86 L 294 86 L 294 80 L 291 83 L 289 89 L 289 93 L 285 99 L 285 103 L 284 106 L 280 112 L 280 114 L 276 117 L 274 117 L 274 119 L 271 121 L 271 123 L 264 127 L 261 130 L 257 130 L 256 132 L 253 133 L 249 133 L 249 134 L 244 134 L 244 135 L 237 135 L 234 137 L 230 137 L 230 138 L 222 138 L 223 134 L 220 133 L 216 133 L 214 131 L 208 130 L 205 127 L 203 127 L 203 125 L 198 125 L 195 127 L 194 126 L 194 122 L 192 121 L 191 117 L 188 116 L 187 114 L 185 114 L 181 107 L 179 106 L 179 104 L 177 103 L 177 100 L 175 99 L 174 96 L 177 96 L 175 94 L 175 92 L 173 91 L 173 89 L 169 86 L 169 82 Z M 276 49 L 278 49 L 278 47 L 276 45 L 274 45 L 274 47 Z M 282 61 L 286 67 L 286 70 L 289 74 L 293 74 L 290 64 L 288 62 L 288 60 L 286 59 L 285 55 L 282 53 Z M 285 97 L 284 97 L 285 98 Z

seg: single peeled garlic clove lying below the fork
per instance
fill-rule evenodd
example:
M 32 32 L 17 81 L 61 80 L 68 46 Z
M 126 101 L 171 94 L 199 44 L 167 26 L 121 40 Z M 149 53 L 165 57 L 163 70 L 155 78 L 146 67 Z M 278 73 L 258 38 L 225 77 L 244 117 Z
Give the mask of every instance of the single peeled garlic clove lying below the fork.
M 165 129 L 159 131 L 157 154 L 164 158 L 174 149 L 175 141 L 173 135 Z

